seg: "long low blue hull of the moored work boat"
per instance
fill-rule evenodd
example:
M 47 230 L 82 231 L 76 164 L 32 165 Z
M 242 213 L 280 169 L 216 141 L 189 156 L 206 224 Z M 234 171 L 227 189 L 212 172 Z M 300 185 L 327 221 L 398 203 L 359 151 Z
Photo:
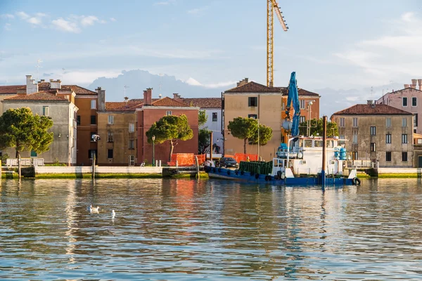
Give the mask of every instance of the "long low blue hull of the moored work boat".
M 276 179 L 274 176 L 267 176 L 263 174 L 250 175 L 249 172 L 241 174 L 238 171 L 236 174 L 235 170 L 224 169 L 224 168 L 211 168 L 207 171 L 210 178 L 223 178 L 232 181 L 245 181 L 249 183 L 268 183 L 271 185 L 322 185 L 321 178 L 309 177 L 309 178 L 284 178 Z M 326 177 L 326 185 L 354 185 L 352 178 L 329 178 Z

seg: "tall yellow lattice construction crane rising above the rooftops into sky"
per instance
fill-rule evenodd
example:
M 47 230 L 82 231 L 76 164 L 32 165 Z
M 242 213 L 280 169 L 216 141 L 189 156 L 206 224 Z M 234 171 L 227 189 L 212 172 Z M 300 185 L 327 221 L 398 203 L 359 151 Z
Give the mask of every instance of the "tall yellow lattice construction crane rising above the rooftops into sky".
M 288 30 L 276 0 L 267 0 L 267 86 L 273 86 L 274 77 L 274 11 L 284 31 Z

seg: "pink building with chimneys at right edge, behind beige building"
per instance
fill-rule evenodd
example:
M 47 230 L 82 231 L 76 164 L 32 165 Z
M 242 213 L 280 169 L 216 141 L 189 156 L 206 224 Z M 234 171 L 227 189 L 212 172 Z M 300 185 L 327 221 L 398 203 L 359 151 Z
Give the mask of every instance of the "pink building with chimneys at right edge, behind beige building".
M 404 84 L 404 89 L 386 93 L 376 103 L 413 113 L 414 133 L 422 134 L 422 79 L 411 79 L 411 84 Z

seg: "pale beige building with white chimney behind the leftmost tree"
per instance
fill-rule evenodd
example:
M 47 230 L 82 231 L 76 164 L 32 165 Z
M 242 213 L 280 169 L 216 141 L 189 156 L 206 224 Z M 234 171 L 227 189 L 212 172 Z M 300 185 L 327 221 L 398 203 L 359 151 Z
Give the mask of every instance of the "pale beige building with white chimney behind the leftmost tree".
M 22 152 L 20 155 L 24 158 L 43 158 L 44 163 L 75 164 L 78 110 L 75 105 L 76 94 L 71 89 L 61 89 L 60 80 L 51 81 L 49 91 L 39 91 L 38 86 L 32 77 L 27 75 L 25 93 L 19 93 L 1 101 L 4 111 L 10 108 L 29 107 L 34 115 L 48 116 L 53 121 L 50 129 L 53 132 L 53 143 L 50 149 L 39 155 L 34 151 Z M 8 148 L 2 153 L 7 153 L 11 158 L 15 157 L 14 148 Z

